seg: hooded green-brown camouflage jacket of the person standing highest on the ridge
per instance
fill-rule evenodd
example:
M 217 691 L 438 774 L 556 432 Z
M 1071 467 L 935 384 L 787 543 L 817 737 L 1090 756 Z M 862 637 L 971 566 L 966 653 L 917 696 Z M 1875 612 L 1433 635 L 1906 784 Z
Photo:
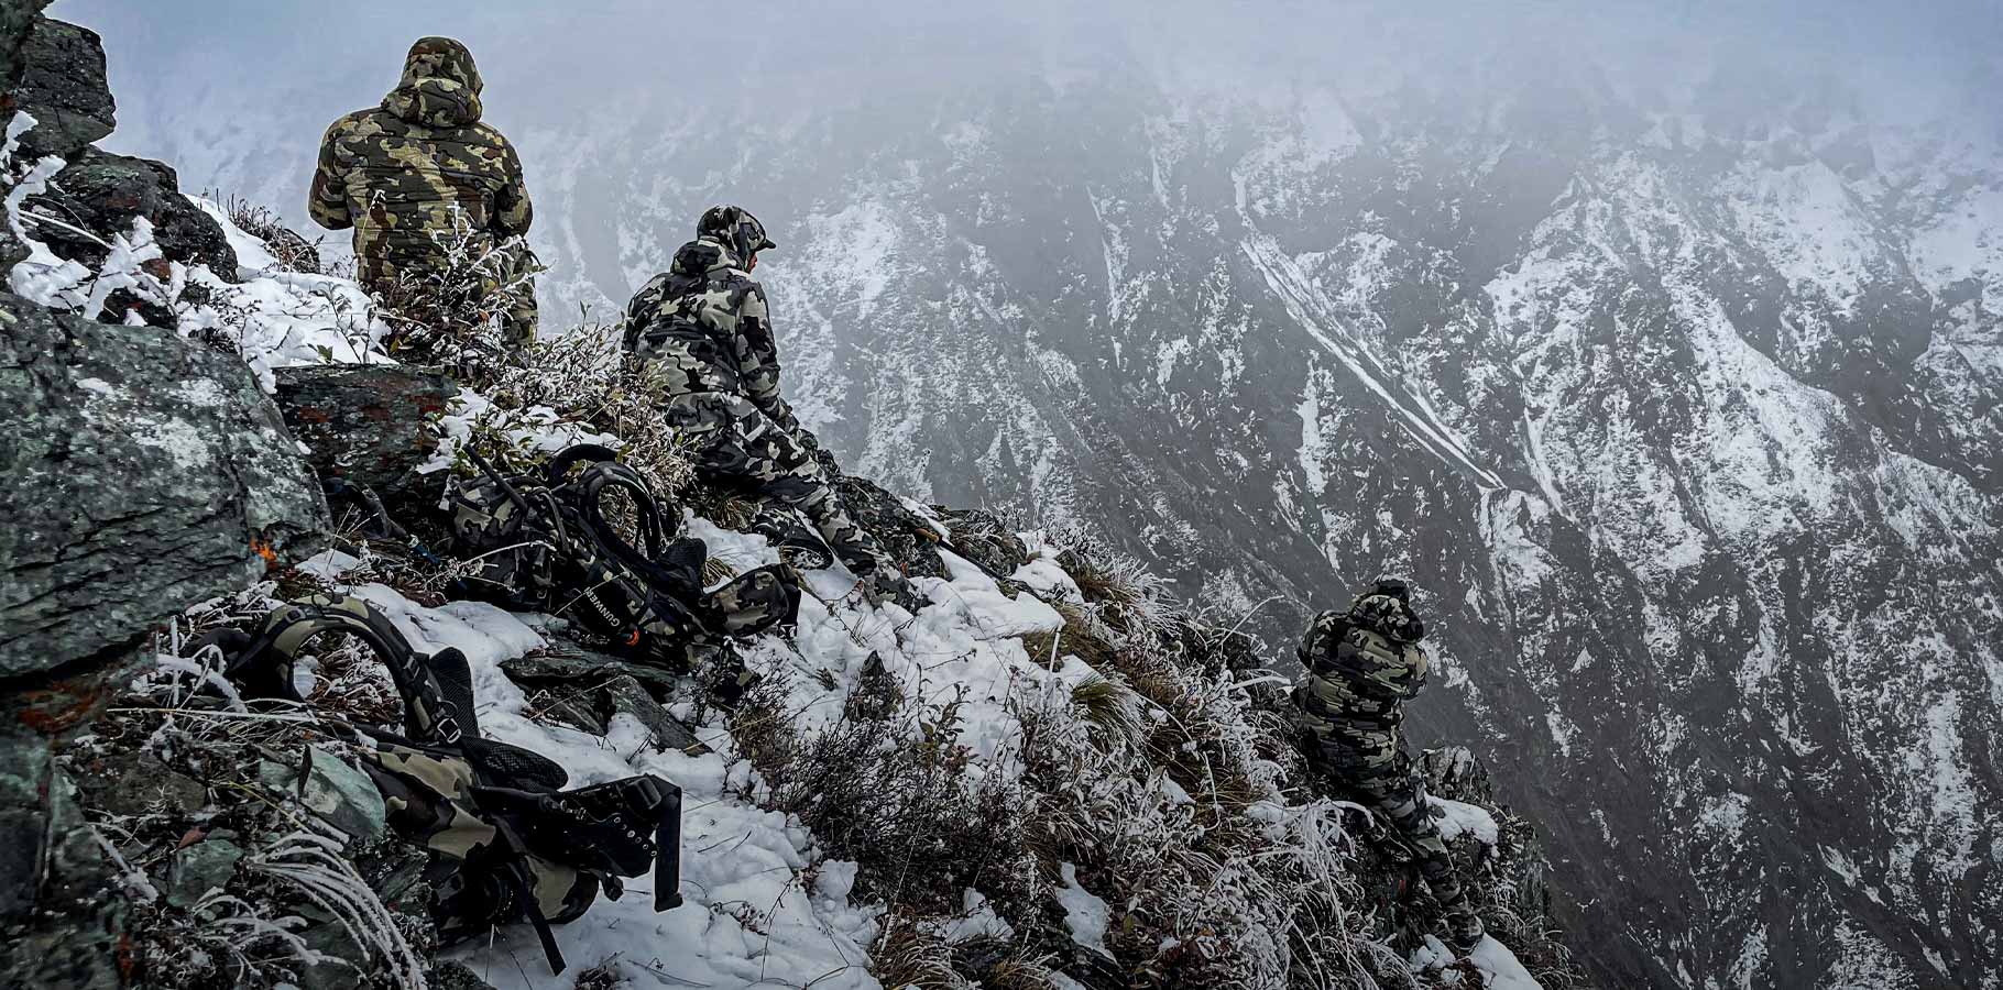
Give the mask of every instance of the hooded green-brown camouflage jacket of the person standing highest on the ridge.
M 383 106 L 326 128 L 306 208 L 328 230 L 355 228 L 363 280 L 439 258 L 437 230 L 527 234 L 521 158 L 481 122 L 481 72 L 451 38 L 411 46 Z

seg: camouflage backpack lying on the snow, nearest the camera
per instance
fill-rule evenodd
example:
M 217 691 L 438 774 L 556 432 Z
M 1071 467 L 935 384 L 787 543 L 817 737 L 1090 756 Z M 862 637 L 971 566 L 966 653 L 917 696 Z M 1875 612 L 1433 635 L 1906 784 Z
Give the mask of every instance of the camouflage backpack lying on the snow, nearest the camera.
M 549 926 L 583 916 L 601 890 L 617 900 L 621 878 L 653 866 L 655 910 L 681 904 L 681 788 L 643 774 L 561 790 L 569 774 L 549 758 L 479 736 L 465 654 L 415 652 L 369 602 L 308 598 L 272 610 L 254 632 L 222 630 L 196 646 L 222 650 L 224 676 L 244 698 L 300 702 L 292 668 L 322 632 L 367 644 L 405 702 L 403 734 L 322 722 L 355 734 L 387 824 L 431 852 L 441 942 L 527 920 L 563 972 Z

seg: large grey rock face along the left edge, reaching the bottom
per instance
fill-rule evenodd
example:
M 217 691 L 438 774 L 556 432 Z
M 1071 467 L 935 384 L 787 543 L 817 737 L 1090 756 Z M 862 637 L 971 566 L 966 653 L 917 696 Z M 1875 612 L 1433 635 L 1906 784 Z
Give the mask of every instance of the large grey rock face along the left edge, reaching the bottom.
M 54 748 L 160 620 L 318 542 L 326 508 L 248 370 L 0 296 L 0 986 L 118 986 L 112 868 Z

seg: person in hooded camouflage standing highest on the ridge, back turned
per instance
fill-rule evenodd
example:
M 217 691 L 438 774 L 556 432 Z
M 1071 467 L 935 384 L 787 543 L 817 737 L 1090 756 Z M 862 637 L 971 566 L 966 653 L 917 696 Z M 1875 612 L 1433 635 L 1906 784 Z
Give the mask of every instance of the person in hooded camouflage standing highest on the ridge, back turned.
M 355 228 L 357 280 L 433 334 L 497 318 L 535 340 L 533 210 L 521 156 L 481 122 L 481 70 L 453 38 L 419 38 L 381 106 L 326 128 L 306 210 Z M 427 344 L 427 340 L 413 340 Z

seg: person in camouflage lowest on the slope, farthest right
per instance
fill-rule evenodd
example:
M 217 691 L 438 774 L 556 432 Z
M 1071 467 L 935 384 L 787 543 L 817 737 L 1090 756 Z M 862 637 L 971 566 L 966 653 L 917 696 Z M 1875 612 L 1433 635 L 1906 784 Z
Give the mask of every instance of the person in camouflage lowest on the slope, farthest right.
M 1294 686 L 1294 708 L 1308 760 L 1400 832 L 1446 908 L 1448 942 L 1466 952 L 1482 942 L 1482 920 L 1398 732 L 1404 702 L 1426 686 L 1428 658 L 1418 646 L 1424 636 L 1402 580 L 1376 582 L 1348 612 L 1314 616 L 1300 644 L 1306 674 Z

